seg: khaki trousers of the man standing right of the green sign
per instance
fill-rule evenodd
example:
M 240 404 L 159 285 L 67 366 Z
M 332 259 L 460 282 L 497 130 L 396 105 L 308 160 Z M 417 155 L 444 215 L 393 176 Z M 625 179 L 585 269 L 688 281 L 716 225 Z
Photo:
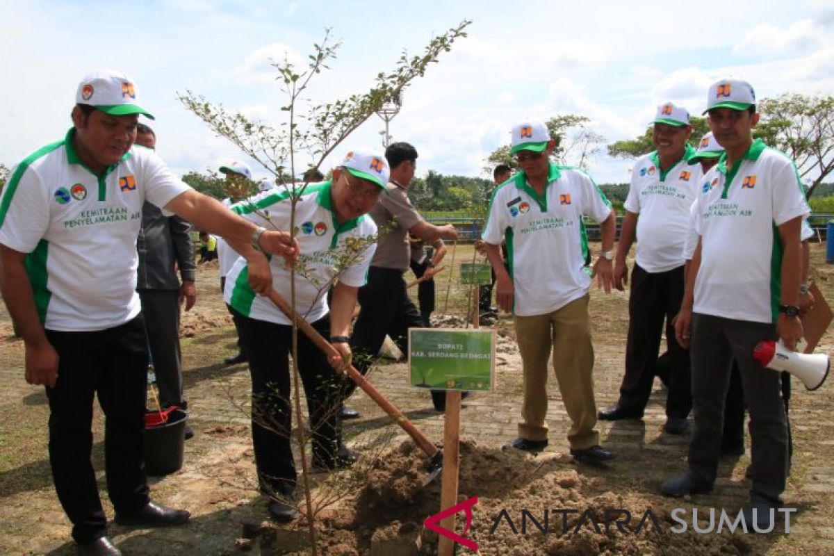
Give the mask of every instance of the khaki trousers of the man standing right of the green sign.
M 521 438 L 547 440 L 547 363 L 552 346 L 556 382 L 571 421 L 570 448 L 580 450 L 600 443 L 600 433 L 594 429 L 594 347 L 590 343 L 588 301 L 585 294 L 552 313 L 515 316 L 524 374 Z

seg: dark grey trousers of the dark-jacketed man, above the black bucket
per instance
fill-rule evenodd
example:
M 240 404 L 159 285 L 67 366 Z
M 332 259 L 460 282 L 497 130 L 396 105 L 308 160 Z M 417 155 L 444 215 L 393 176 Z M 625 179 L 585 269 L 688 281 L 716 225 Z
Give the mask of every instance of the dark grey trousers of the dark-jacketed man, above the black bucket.
M 179 291 L 140 289 L 159 403 L 183 406 L 183 357 L 179 348 Z

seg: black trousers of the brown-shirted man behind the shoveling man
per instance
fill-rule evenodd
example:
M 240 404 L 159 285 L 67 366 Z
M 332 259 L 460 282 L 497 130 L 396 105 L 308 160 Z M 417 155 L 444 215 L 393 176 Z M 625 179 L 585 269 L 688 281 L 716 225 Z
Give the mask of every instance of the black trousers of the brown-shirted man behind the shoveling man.
M 424 328 L 426 323 L 409 298 L 403 281 L 403 271 L 394 268 L 370 267 L 368 283 L 359 288 L 362 310 L 354 323 L 350 348 L 354 351 L 354 366 L 359 373 L 368 373 L 376 361 L 385 336 L 389 335 L 399 350 L 409 353 L 409 328 Z M 345 391 L 348 397 L 356 389 L 351 382 Z M 445 408 L 446 393 L 432 390 L 435 408 Z

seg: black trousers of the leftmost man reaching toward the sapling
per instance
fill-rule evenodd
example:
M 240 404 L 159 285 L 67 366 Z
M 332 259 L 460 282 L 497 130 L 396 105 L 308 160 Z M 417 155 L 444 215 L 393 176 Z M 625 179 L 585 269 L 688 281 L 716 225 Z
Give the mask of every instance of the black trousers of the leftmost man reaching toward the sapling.
M 90 452 L 93 396 L 104 412 L 104 459 L 110 500 L 118 513 L 148 503 L 142 453 L 148 343 L 141 316 L 96 332 L 46 331 L 58 352 L 58 382 L 49 400 L 49 463 L 73 538 L 89 543 L 107 533 Z

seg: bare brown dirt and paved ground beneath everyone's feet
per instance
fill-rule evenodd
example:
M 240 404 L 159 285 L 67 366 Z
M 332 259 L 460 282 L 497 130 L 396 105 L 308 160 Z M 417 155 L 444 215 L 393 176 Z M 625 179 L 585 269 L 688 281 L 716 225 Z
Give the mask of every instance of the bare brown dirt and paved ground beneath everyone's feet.
M 825 245 L 812 245 L 812 275 L 826 298 L 834 299 L 834 267 L 824 262 Z M 456 261 L 469 260 L 471 248 L 459 247 Z M 436 323 L 465 325 L 465 290 L 453 284 L 445 308 L 446 280 L 438 278 Z M 153 498 L 191 510 L 193 519 L 182 528 L 133 530 L 111 526 L 111 538 L 126 553 L 226 554 L 289 553 L 303 547 L 303 524 L 262 527 L 266 503 L 255 488 L 249 438 L 249 373 L 245 365 L 227 367 L 223 359 L 234 353 L 234 328 L 219 297 L 216 268 L 198 272 L 198 303 L 183 315 L 185 388 L 192 408 L 190 422 L 196 436 L 185 446 L 185 463 L 177 473 L 152 478 Z M 597 403 L 616 398 L 623 368 L 627 324 L 627 293 L 591 292 L 594 327 Z M 502 316 L 499 334 L 497 385 L 465 401 L 462 413 L 460 499 L 477 495 L 475 517 L 467 533 L 482 554 L 831 554 L 834 527 L 834 397 L 831 385 L 807 393 L 794 382 L 791 408 L 793 470 L 785 493 L 786 505 L 797 508 L 791 533 L 673 534 L 671 508 L 700 511 L 701 527 L 708 508 L 736 513 L 746 502 L 749 482 L 744 456 L 722 461 L 714 493 L 671 500 L 656 494 L 663 478 L 685 466 L 687 438 L 661 432 L 664 393 L 652 395 L 643 422 L 600 423 L 603 443 L 618 458 L 605 468 L 578 466 L 567 454 L 569 426 L 555 381 L 550 381 L 550 446 L 537 457 L 501 446 L 515 437 L 520 418 L 520 359 L 511 321 Z M 831 353 L 834 337 L 826 333 L 818 351 Z M 404 363 L 382 360 L 371 379 L 430 438 L 442 438 L 442 415 L 435 413 L 427 395 L 406 385 Z M 429 552 L 436 535 L 425 534 L 423 520 L 440 510 L 440 481 L 422 487 L 425 457 L 390 423 L 374 403 L 359 393 L 350 402 L 362 418 L 345 427 L 347 442 L 362 454 L 356 468 L 340 473 L 314 473 L 319 500 L 319 549 L 327 554 L 367 554 L 371 539 L 413 539 L 421 536 Z M 55 496 L 47 456 L 48 407 L 42 388 L 23 379 L 23 345 L 13 336 L 5 309 L 0 312 L 0 553 L 74 553 L 68 519 Z M 103 421 L 96 411 L 93 463 L 105 508 L 113 516 L 103 477 Z M 324 508 L 325 500 L 331 502 Z M 542 524 L 545 509 L 577 510 L 550 514 L 548 533 Z M 625 532 L 610 524 L 605 509 L 625 508 L 632 514 Z M 598 522 L 581 518 L 585 510 Z M 506 519 L 495 527 L 502 510 Z M 528 510 L 526 532 L 521 514 Z M 659 527 L 638 523 L 647 510 Z M 462 515 L 462 514 L 461 514 Z M 706 519 L 705 519 L 706 518 Z M 581 523 L 580 523 L 581 522 Z M 578 530 L 575 530 L 579 525 Z M 459 518 L 459 530 L 461 529 Z M 295 533 L 297 530 L 302 533 Z M 491 530 L 494 529 L 494 530 Z M 691 529 L 691 524 L 690 524 Z M 663 531 L 661 533 L 661 530 Z M 422 531 L 422 533 L 421 533 Z M 252 540 L 240 538 L 256 537 Z M 259 538 L 258 538 L 259 537 Z M 271 548 L 270 548 L 271 547 Z M 463 552 L 459 552 L 463 553 Z

